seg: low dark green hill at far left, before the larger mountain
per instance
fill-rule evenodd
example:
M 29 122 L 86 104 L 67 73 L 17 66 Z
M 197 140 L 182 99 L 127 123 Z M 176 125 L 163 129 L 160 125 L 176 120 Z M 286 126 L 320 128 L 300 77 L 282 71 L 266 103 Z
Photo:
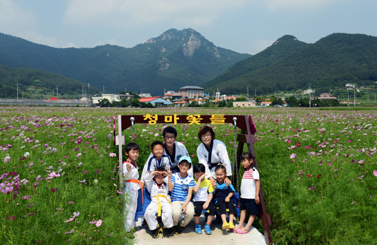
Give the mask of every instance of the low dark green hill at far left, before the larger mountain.
M 0 98 L 16 98 L 17 87 L 19 98 L 24 95 L 25 98 L 47 99 L 52 95 L 52 91 L 56 96 L 57 88 L 59 96 L 69 99 L 73 99 L 74 96 L 79 99 L 83 88 L 86 94 L 100 92 L 97 88 L 88 88 L 87 84 L 60 74 L 34 68 L 12 68 L 0 65 Z

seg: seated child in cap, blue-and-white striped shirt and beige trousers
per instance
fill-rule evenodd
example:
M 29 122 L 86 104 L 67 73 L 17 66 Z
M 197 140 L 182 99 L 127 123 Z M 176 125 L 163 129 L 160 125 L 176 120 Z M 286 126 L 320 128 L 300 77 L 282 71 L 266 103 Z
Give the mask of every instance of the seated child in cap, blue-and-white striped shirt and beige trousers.
M 191 195 L 195 186 L 193 177 L 187 174 L 187 171 L 191 168 L 190 157 L 181 157 L 178 168 L 180 172 L 176 172 L 168 178 L 168 187 L 171 192 L 171 201 L 173 202 L 173 229 L 177 235 L 182 234 L 184 227 L 189 224 L 194 216 Z

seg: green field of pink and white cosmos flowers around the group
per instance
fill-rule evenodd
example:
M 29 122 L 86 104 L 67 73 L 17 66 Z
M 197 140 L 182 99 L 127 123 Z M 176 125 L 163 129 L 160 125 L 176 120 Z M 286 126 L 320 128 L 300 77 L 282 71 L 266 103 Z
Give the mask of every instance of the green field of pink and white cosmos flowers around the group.
M 0 107 L 1 244 L 131 244 L 112 116 L 147 113 L 253 116 L 274 244 L 377 243 L 374 110 Z M 164 126 L 136 125 L 139 168 Z M 176 125 L 194 163 L 199 127 Z M 234 162 L 232 125 L 212 127 Z

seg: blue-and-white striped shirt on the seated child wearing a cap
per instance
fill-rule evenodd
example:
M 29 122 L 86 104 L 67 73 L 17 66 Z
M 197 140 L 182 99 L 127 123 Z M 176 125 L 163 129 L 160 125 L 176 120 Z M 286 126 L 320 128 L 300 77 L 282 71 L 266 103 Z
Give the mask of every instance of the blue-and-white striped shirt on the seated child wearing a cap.
M 186 177 L 182 179 L 180 173 L 176 172 L 171 175 L 171 182 L 174 183 L 174 188 L 171 191 L 171 201 L 185 202 L 187 194 L 189 193 L 189 188 L 195 186 L 194 178 L 190 175 L 186 175 Z

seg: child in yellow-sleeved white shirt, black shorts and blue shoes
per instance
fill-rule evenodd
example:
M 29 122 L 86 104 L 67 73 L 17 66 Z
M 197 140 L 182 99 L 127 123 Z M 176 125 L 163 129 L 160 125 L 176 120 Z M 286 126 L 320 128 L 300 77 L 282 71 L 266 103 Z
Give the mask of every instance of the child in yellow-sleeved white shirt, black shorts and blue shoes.
M 207 235 L 210 235 L 210 224 L 212 223 L 213 217 L 215 216 L 215 205 L 213 205 L 213 188 L 212 183 L 208 179 L 205 179 L 206 176 L 206 167 L 203 164 L 196 164 L 193 169 L 195 176 L 195 187 L 194 191 L 194 221 L 195 221 L 195 232 L 197 234 L 202 234 L 202 227 L 199 224 L 199 218 L 202 214 L 202 209 L 206 210 L 208 213 L 207 222 L 204 226 L 204 232 Z

